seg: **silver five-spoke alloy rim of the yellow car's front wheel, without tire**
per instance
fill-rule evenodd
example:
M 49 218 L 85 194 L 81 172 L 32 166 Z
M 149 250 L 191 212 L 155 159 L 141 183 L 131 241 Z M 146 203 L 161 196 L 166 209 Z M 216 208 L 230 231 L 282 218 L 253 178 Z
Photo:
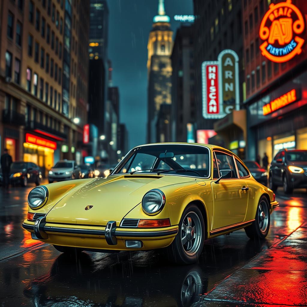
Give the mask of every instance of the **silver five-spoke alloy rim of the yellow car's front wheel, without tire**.
M 188 256 L 196 254 L 201 243 L 201 223 L 195 212 L 189 212 L 181 226 L 181 243 Z

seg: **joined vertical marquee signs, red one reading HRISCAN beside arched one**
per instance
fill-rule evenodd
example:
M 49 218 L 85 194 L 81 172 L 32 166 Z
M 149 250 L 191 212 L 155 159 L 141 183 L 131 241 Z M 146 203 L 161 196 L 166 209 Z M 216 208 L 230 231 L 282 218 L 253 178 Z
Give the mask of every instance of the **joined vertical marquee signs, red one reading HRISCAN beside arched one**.
M 202 63 L 203 117 L 220 119 L 239 110 L 239 57 L 223 50 L 217 61 Z

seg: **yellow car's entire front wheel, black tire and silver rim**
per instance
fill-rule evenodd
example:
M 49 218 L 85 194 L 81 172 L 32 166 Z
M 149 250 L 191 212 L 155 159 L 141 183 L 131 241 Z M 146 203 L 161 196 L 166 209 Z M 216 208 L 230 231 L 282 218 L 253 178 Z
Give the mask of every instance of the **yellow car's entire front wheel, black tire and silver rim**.
M 196 205 L 188 205 L 182 213 L 178 234 L 166 248 L 169 260 L 177 264 L 196 262 L 203 250 L 204 239 L 203 214 Z

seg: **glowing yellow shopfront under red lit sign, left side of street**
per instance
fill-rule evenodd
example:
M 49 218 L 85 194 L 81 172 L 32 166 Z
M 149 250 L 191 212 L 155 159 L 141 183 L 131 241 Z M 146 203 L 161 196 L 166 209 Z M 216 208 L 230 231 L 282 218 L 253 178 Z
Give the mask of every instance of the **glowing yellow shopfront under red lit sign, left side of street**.
M 54 165 L 55 156 L 59 151 L 58 147 L 55 141 L 26 133 L 23 143 L 24 161 L 36 163 L 41 168 L 43 176 L 46 177 Z

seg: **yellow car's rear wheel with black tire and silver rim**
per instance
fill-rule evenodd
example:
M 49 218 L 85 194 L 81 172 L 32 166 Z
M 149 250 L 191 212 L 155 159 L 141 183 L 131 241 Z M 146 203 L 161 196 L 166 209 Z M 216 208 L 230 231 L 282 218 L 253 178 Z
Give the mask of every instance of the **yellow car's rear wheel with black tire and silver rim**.
M 254 222 L 244 228 L 250 239 L 265 239 L 270 229 L 270 207 L 265 196 L 261 196 Z

